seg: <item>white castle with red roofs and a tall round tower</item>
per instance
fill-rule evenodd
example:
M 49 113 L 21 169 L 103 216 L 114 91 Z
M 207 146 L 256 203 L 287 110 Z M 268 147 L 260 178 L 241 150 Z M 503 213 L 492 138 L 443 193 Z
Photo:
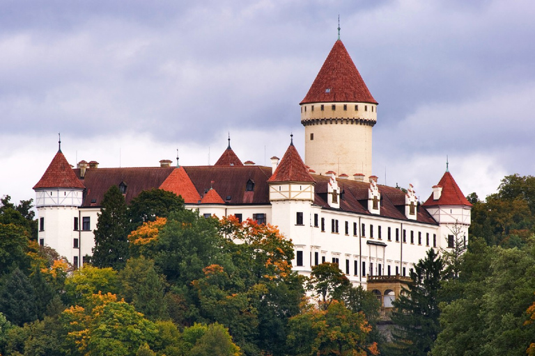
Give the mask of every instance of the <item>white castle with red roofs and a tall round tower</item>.
M 277 225 L 293 240 L 293 268 L 299 273 L 336 262 L 355 285 L 386 283 L 374 288 L 387 307 L 398 293 L 391 282 L 408 276 L 426 250 L 466 238 L 471 204 L 448 171 L 423 204 L 412 186 L 402 191 L 377 183 L 371 144 L 378 103 L 341 40 L 300 106 L 304 161 L 291 138 L 282 159 L 272 157 L 272 167 L 242 163 L 230 138 L 214 165 L 197 166 L 179 166 L 178 159 L 176 166 L 162 160 L 144 168 L 99 168 L 96 161 L 80 161 L 73 169 L 60 146 L 33 187 L 39 243 L 81 266 L 91 255 L 100 203 L 111 185 L 127 203 L 145 189 L 162 188 L 181 195 L 201 216 L 234 215 Z

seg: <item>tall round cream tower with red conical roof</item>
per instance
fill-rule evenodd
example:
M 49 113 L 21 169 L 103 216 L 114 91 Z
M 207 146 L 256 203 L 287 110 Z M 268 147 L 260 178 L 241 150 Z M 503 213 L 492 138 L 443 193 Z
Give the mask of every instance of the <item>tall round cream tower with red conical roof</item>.
M 304 163 L 320 174 L 371 176 L 371 130 L 377 105 L 355 63 L 337 40 L 304 97 Z

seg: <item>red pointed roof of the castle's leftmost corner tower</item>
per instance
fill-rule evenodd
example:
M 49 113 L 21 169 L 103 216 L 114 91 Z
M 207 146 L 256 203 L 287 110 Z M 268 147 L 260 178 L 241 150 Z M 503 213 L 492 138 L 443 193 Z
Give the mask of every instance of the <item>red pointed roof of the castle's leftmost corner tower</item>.
M 33 189 L 39 188 L 82 188 L 85 186 L 76 177 L 75 172 L 70 167 L 67 159 L 61 151 L 56 153 L 52 162 L 50 162 L 45 174 L 37 182 Z

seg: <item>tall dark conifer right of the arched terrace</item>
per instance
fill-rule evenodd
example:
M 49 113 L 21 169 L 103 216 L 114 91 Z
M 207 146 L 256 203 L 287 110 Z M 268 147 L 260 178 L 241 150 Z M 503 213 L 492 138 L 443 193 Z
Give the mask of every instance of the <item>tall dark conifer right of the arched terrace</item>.
M 400 355 L 427 355 L 440 331 L 438 304 L 444 263 L 435 250 L 430 249 L 410 273 L 412 282 L 394 301 L 391 320 L 396 324 L 392 332 L 393 351 Z

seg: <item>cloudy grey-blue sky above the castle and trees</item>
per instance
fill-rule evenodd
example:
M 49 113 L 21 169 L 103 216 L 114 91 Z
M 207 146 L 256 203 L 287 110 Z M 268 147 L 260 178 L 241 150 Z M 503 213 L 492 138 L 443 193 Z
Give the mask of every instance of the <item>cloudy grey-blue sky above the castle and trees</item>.
M 535 175 L 529 0 L 0 0 L 0 195 L 57 151 L 101 167 L 269 165 L 341 39 L 379 102 L 373 173 L 425 200 L 449 170 L 485 197 Z M 266 159 L 267 158 L 267 159 Z

